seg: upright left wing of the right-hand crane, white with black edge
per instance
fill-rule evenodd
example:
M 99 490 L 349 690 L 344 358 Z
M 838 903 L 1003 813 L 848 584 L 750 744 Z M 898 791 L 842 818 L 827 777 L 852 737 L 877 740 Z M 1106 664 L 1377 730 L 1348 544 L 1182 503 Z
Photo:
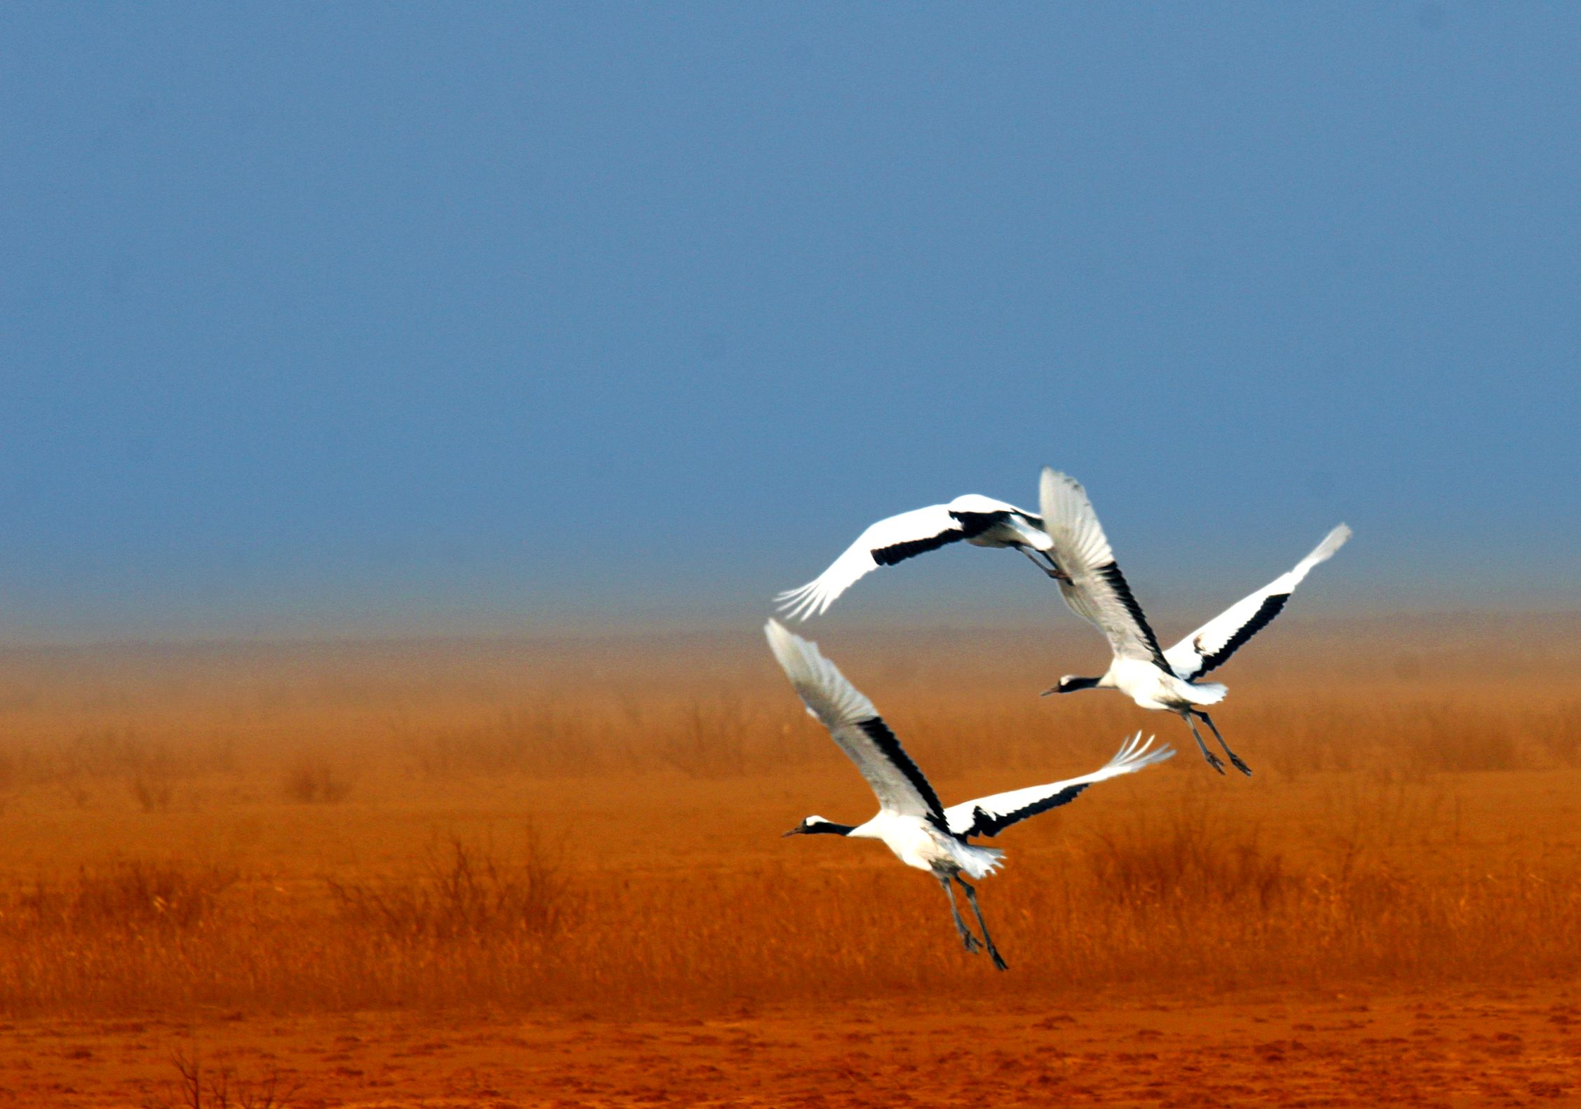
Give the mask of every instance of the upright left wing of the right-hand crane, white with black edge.
M 1145 659 L 1168 670 L 1081 483 L 1045 466 L 1040 501 L 1050 556 L 1070 578 L 1059 583 L 1070 611 L 1104 633 L 1116 659 Z

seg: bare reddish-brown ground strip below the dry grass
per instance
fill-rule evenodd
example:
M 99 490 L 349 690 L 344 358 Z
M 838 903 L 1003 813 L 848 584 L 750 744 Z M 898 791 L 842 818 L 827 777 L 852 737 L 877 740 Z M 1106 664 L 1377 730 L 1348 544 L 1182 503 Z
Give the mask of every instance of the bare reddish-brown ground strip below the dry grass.
M 0 1028 L 0 1104 L 188 1104 L 172 1052 L 297 1106 L 1576 1106 L 1572 991 L 1219 1003 L 907 1002 L 715 1019 L 588 1014 Z M 209 1104 L 209 1103 L 206 1103 Z

